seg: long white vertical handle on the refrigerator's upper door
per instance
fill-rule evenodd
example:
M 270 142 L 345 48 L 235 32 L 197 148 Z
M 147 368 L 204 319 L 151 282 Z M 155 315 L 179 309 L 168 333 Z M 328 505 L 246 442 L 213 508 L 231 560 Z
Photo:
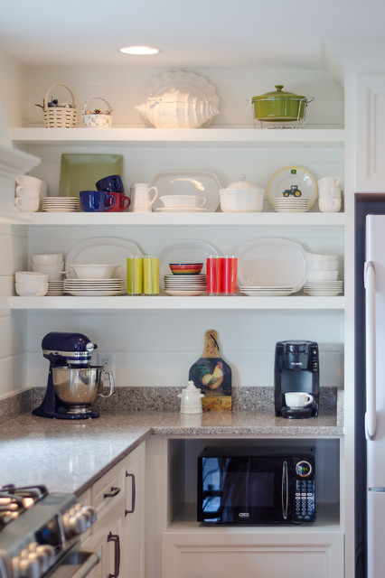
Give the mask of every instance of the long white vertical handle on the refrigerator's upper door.
M 365 434 L 369 440 L 376 434 L 376 274 L 374 263 L 366 261 L 365 285 L 365 358 L 366 358 L 366 414 Z

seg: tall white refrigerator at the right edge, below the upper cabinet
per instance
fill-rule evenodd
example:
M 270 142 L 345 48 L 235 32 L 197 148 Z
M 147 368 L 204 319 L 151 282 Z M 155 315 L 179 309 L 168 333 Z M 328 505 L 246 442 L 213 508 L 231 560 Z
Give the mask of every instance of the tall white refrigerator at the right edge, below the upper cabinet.
M 385 575 L 385 195 L 357 195 L 356 578 Z

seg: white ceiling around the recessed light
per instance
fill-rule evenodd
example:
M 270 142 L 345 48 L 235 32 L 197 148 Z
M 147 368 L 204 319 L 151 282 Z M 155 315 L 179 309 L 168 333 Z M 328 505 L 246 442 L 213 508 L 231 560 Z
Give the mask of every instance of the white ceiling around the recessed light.
M 29 65 L 320 69 L 325 37 L 383 38 L 385 0 L 0 0 L 0 49 Z M 148 44 L 155 56 L 117 48 Z

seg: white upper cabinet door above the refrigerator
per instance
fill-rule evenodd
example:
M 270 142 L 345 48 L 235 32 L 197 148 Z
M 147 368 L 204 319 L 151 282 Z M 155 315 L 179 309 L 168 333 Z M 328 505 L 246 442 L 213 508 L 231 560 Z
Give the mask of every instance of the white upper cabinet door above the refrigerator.
M 354 192 L 385 191 L 385 74 L 356 77 Z

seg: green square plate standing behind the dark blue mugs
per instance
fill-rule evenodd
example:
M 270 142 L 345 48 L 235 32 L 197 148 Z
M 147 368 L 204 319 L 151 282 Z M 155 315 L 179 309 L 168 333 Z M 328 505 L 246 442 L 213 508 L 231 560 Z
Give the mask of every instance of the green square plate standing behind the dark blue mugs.
M 61 197 L 79 197 L 79 191 L 96 191 L 95 183 L 110 174 L 122 176 L 121 154 L 61 154 Z

